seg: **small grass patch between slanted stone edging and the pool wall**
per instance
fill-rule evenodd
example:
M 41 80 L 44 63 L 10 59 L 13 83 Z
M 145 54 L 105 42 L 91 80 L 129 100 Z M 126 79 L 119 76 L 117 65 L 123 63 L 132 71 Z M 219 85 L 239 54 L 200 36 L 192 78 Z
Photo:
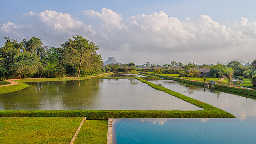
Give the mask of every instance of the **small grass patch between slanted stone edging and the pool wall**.
M 86 120 L 82 125 L 74 143 L 97 143 L 107 142 L 108 121 Z

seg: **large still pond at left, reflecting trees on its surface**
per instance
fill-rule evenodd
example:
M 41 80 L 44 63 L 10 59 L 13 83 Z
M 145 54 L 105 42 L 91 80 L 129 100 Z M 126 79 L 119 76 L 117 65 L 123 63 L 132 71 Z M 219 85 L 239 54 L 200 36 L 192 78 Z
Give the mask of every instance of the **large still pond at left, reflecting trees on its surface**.
M 0 94 L 0 110 L 201 110 L 136 79 L 33 82 Z

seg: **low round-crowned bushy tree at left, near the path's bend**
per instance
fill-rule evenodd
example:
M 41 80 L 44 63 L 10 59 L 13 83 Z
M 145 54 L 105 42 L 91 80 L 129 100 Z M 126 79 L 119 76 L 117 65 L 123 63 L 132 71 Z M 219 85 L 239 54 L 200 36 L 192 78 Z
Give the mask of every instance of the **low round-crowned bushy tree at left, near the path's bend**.
M 20 53 L 14 57 L 14 63 L 10 69 L 13 71 L 14 75 L 21 78 L 22 75 L 35 74 L 39 67 L 41 67 L 41 63 L 37 55 Z

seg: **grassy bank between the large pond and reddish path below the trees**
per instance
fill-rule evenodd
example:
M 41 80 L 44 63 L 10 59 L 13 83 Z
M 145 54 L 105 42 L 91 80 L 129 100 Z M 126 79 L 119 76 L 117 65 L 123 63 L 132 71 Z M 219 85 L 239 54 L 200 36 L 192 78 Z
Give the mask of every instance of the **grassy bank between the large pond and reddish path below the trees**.
M 97 76 L 99 74 L 94 74 L 97 77 L 104 77 L 108 75 L 112 75 L 113 73 L 104 74 L 102 76 Z M 71 80 L 84 80 L 84 79 L 90 79 L 92 77 L 61 77 L 61 78 L 33 78 L 33 79 L 19 79 L 14 80 L 15 82 L 19 82 L 19 84 L 14 85 L 8 85 L 0 87 L 0 94 L 1 93 L 7 93 L 7 92 L 15 92 L 22 90 L 26 87 L 28 87 L 28 84 L 24 84 L 25 82 L 51 82 L 51 81 L 71 81 Z

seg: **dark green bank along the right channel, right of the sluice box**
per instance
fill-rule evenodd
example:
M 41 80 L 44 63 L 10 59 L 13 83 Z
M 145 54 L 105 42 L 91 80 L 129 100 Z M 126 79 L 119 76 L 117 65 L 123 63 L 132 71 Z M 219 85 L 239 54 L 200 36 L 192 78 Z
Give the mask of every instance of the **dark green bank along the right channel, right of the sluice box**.
M 235 92 L 235 93 L 241 93 L 241 94 L 256 96 L 256 91 L 255 90 L 250 90 L 250 89 L 242 89 L 242 88 L 230 87 L 230 86 L 220 85 L 220 84 L 215 84 L 213 86 L 213 88 L 214 89 L 225 90 L 225 91 L 229 91 L 229 92 Z

